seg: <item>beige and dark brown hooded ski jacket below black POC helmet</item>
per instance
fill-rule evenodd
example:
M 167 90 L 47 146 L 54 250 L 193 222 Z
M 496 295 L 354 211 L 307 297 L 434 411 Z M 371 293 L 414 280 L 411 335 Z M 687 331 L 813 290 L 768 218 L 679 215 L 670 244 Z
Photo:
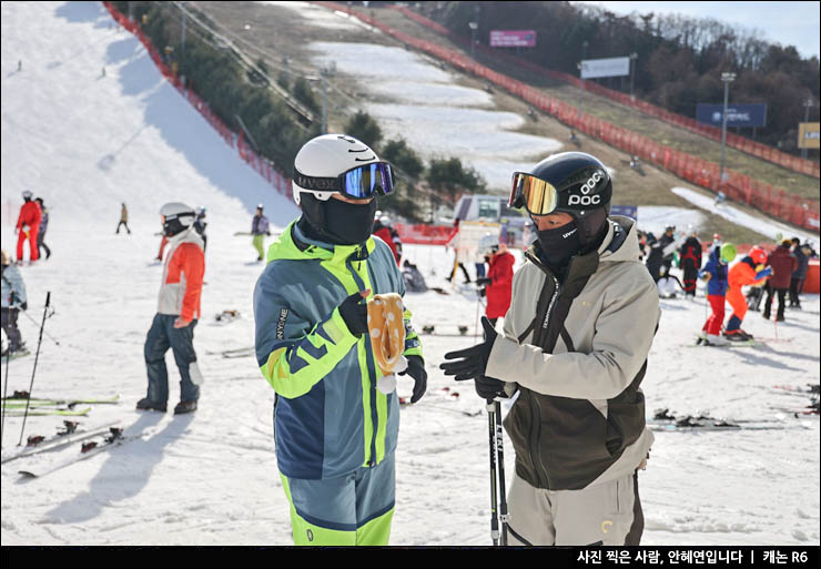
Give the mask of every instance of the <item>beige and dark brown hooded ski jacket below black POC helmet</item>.
M 640 389 L 660 311 L 635 222 L 609 217 L 599 246 L 557 280 L 538 241 L 516 273 L 486 375 L 518 390 L 505 429 L 528 484 L 575 490 L 632 473 L 653 441 Z

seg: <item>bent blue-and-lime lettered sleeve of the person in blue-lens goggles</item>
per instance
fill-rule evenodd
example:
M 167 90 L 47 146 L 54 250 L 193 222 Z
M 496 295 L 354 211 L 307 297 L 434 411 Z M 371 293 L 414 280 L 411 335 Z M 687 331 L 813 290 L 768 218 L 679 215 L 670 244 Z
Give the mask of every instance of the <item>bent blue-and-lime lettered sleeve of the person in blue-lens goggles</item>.
M 260 372 L 282 397 L 305 395 L 359 341 L 342 319 L 338 306 L 318 323 L 294 309 L 270 273 L 254 288 L 256 360 Z

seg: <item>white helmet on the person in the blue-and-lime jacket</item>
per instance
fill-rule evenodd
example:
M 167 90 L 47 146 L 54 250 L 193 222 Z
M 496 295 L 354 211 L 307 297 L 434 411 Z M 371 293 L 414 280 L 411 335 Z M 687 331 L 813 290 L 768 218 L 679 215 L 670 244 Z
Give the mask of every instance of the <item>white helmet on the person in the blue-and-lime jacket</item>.
M 391 166 L 382 162 L 364 142 L 346 134 L 316 136 L 307 141 L 294 159 L 294 179 L 291 181 L 294 202 L 300 205 L 302 192 L 312 193 L 323 202 L 331 199 L 331 194 L 345 193 L 342 187 L 336 187 L 337 179 L 349 170 L 373 163 L 385 164 L 389 174 Z M 391 184 L 385 193 L 393 191 L 392 175 Z

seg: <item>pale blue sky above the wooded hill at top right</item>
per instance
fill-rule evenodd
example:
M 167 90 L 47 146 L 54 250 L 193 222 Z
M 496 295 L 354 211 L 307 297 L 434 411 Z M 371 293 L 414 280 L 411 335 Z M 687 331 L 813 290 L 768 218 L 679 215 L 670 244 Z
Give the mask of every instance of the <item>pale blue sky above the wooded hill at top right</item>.
M 714 18 L 763 32 L 763 39 L 794 45 L 803 58 L 819 55 L 821 2 L 574 2 L 598 4 L 615 13 L 682 13 Z

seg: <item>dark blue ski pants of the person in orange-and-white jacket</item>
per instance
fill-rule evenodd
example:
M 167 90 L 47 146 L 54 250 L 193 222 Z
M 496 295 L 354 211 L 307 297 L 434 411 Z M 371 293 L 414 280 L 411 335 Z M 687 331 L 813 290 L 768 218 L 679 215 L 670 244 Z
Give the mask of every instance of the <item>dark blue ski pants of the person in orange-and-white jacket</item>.
M 165 353 L 174 352 L 174 362 L 180 369 L 180 400 L 195 402 L 200 398 L 200 386 L 191 380 L 191 366 L 196 365 L 194 352 L 194 326 L 196 321 L 184 328 L 175 328 L 173 314 L 156 314 L 145 337 L 145 367 L 149 373 L 148 398 L 156 404 L 169 400 L 169 370 L 165 367 Z M 195 372 L 199 375 L 199 369 Z

